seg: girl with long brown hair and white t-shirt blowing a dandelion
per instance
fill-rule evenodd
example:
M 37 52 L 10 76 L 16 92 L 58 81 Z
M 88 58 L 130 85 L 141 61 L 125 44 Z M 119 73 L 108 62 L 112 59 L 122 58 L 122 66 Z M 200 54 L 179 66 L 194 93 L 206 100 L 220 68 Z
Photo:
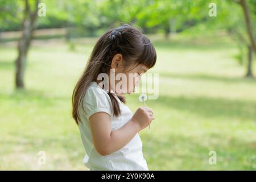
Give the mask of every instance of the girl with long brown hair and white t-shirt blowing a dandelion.
M 152 109 L 139 107 L 132 114 L 123 95 L 134 92 L 137 83 L 113 92 L 118 80 L 101 85 L 98 75 L 141 75 L 155 62 L 150 40 L 128 24 L 106 31 L 96 43 L 72 96 L 73 118 L 86 151 L 84 164 L 90 170 L 148 170 L 138 133 L 155 118 Z

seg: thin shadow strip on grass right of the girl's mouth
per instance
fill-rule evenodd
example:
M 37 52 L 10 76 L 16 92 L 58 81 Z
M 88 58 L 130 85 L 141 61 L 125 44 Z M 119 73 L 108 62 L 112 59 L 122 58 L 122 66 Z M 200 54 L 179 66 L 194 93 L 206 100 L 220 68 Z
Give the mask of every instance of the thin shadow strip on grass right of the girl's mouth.
M 203 81 L 219 81 L 225 83 L 253 83 L 256 84 L 255 78 L 247 77 L 225 77 L 225 76 L 215 76 L 215 75 L 206 75 L 206 74 L 182 74 L 182 73 L 160 73 L 159 76 L 167 78 L 181 78 L 187 80 L 203 80 Z

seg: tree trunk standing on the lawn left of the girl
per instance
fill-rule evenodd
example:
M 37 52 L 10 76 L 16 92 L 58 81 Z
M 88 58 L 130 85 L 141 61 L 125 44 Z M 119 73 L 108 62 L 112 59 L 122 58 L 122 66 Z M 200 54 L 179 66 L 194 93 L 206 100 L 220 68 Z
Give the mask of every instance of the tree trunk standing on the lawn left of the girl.
M 38 0 L 35 1 L 35 10 L 31 11 L 30 4 L 26 0 L 24 9 L 24 20 L 22 23 L 22 36 L 18 43 L 18 57 L 15 61 L 15 85 L 16 88 L 24 88 L 24 71 L 27 61 L 27 52 L 30 47 L 32 32 L 35 28 L 38 14 Z

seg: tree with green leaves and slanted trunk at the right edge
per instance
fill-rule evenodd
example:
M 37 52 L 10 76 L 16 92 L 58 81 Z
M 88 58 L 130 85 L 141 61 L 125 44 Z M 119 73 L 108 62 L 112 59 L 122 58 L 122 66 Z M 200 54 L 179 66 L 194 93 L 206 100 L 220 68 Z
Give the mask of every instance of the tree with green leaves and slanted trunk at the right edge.
M 243 52 L 245 52 L 243 50 L 247 49 L 247 67 L 245 76 L 253 77 L 252 61 L 253 51 L 255 52 L 255 30 L 252 22 L 255 22 L 256 15 L 255 0 L 204 1 L 206 5 L 210 2 L 214 2 L 217 5 L 217 17 L 207 17 L 204 26 L 208 28 L 208 30 L 226 30 L 238 44 L 241 62 L 243 57 L 245 57 L 243 56 Z M 250 11 L 252 13 L 250 13 Z

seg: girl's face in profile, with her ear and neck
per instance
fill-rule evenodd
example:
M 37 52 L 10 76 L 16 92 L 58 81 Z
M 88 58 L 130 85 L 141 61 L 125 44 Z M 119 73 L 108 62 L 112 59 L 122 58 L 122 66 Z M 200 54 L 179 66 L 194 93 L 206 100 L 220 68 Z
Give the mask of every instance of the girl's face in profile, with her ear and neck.
M 115 55 L 116 56 L 116 55 Z M 112 71 L 114 71 L 115 81 L 110 85 L 112 90 L 118 95 L 130 94 L 135 91 L 135 86 L 139 85 L 141 76 L 147 72 L 148 68 L 142 64 L 139 65 L 125 65 L 125 61 L 115 60 L 115 56 L 112 61 Z M 120 57 L 119 57 L 120 59 Z M 113 89 L 113 87 L 115 87 Z

